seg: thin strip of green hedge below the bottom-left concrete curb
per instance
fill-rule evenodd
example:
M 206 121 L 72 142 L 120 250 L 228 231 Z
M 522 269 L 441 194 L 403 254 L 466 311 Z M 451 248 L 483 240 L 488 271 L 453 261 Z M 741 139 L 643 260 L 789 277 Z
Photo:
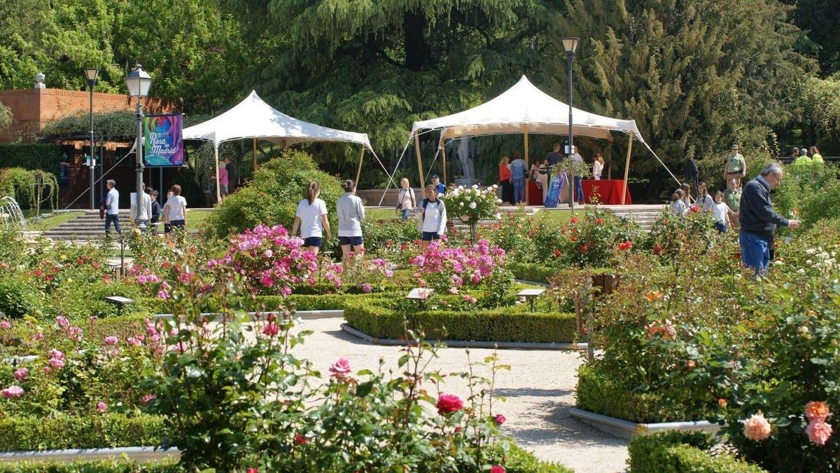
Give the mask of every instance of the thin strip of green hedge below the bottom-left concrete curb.
M 0 463 L 0 473 L 181 473 L 177 460 L 137 463 L 126 460 L 74 461 L 14 461 Z

